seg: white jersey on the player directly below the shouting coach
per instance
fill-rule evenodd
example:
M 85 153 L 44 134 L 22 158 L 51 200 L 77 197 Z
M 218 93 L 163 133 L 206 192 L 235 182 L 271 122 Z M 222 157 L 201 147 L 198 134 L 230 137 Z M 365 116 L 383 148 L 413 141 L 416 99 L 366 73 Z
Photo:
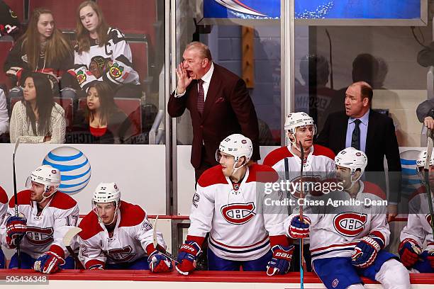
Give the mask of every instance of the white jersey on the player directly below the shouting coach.
M 277 178 L 272 168 L 260 164 L 249 166 L 239 184 L 223 175 L 221 165 L 206 170 L 191 205 L 189 236 L 205 237 L 209 232 L 209 249 L 223 259 L 248 261 L 264 256 L 271 237 L 285 239 L 286 208 L 282 206 L 279 213 L 264 213 L 262 208 L 264 184 Z

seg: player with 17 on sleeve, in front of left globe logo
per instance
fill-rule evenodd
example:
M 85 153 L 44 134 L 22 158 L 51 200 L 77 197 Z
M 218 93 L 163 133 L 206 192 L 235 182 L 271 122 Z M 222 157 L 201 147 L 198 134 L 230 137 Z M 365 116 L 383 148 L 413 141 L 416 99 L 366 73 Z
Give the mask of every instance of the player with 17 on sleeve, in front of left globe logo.
M 14 198 L 9 200 L 0 238 L 9 249 L 15 249 L 19 242 L 21 268 L 34 268 L 43 273 L 74 268 L 74 259 L 62 239 L 71 226 L 77 226 L 79 207 L 73 198 L 57 191 L 59 185 L 58 169 L 39 166 L 28 177 L 28 190 L 17 195 L 18 216 Z M 18 268 L 17 254 L 12 256 L 9 268 Z

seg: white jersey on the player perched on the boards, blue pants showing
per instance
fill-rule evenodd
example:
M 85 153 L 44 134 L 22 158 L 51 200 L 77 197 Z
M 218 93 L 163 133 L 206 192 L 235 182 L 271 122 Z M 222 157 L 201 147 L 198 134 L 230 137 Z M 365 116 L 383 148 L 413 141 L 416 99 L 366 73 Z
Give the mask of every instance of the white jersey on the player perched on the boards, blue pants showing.
M 374 202 L 384 202 L 386 195 L 374 183 L 360 181 L 360 185 L 360 191 L 354 199 L 347 192 L 334 191 L 318 197 L 325 201 L 325 205 L 318 206 L 318 212 L 304 214 L 311 220 L 309 237 L 312 260 L 351 256 L 355 245 L 368 234 L 380 237 L 384 246 L 389 244 L 386 207 L 372 205 Z M 329 200 L 359 200 L 361 205 L 345 204 L 334 208 L 331 204 L 327 205 Z M 285 220 L 286 232 L 289 232 L 291 219 L 296 215 L 298 214 L 291 214 Z

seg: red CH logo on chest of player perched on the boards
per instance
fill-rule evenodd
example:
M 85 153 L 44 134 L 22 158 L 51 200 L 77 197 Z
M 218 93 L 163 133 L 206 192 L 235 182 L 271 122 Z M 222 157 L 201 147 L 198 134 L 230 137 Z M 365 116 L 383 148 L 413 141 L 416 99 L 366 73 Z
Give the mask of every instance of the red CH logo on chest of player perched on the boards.
M 338 233 L 347 237 L 355 237 L 365 229 L 367 214 L 341 212 L 333 219 L 333 226 Z

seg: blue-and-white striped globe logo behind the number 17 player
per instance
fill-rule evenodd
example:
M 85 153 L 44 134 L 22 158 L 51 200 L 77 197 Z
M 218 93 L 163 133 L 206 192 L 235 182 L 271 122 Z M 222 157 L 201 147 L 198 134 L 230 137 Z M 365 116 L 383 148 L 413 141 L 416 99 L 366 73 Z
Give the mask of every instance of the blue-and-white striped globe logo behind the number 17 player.
M 57 147 L 49 152 L 43 164 L 60 171 L 59 191 L 73 195 L 82 191 L 89 183 L 91 166 L 86 155 L 74 147 Z

